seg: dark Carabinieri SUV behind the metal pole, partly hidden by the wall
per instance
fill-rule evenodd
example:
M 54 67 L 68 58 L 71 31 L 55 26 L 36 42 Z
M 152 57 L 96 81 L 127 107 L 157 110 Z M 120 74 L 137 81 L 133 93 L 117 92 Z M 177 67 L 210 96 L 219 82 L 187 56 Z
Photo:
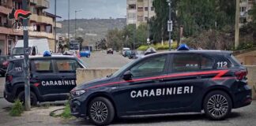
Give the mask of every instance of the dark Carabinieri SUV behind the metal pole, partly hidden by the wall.
M 24 59 L 9 61 L 6 72 L 4 98 L 8 102 L 15 99 L 24 102 Z M 37 102 L 54 102 L 69 98 L 70 91 L 77 86 L 76 70 L 88 68 L 81 60 L 73 56 L 43 56 L 29 57 L 31 104 Z

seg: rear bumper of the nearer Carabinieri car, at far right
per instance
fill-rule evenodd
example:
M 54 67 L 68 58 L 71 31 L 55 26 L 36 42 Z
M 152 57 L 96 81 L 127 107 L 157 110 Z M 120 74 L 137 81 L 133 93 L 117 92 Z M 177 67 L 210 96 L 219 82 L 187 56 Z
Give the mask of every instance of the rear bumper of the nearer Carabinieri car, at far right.
M 233 108 L 240 108 L 243 106 L 249 106 L 252 102 L 251 88 L 245 85 L 242 89 L 239 88 L 239 92 L 235 94 Z

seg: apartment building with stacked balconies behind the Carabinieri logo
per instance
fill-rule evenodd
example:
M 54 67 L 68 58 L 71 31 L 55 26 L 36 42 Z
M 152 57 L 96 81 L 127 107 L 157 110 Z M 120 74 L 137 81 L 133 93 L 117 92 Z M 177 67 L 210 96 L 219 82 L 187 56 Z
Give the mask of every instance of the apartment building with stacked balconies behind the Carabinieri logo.
M 50 7 L 48 0 L 28 0 L 28 8 L 32 13 L 28 26 L 36 27 L 28 31 L 29 39 L 48 39 L 51 50 L 55 50 L 55 20 L 60 18 L 44 10 Z M 14 32 L 13 20 L 8 19 L 12 9 L 22 9 L 22 0 L 0 0 L 0 49 L 2 54 L 11 54 L 18 39 L 23 39 L 23 31 Z M 62 28 L 57 23 L 56 28 Z

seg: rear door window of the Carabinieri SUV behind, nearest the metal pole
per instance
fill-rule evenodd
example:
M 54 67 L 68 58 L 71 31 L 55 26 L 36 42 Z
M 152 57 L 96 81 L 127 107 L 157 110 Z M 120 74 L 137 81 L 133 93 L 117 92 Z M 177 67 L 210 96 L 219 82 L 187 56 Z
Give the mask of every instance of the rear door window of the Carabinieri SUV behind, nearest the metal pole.
M 53 72 L 51 60 L 35 60 L 32 64 L 35 65 L 36 72 Z

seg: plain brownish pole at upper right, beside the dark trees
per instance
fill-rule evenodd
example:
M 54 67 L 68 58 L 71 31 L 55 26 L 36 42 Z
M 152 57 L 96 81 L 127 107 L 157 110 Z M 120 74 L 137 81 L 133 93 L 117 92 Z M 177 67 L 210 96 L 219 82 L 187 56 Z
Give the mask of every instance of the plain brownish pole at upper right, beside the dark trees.
M 239 46 L 239 18 L 240 18 L 240 1 L 235 2 L 235 49 Z

